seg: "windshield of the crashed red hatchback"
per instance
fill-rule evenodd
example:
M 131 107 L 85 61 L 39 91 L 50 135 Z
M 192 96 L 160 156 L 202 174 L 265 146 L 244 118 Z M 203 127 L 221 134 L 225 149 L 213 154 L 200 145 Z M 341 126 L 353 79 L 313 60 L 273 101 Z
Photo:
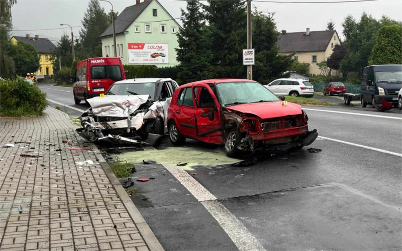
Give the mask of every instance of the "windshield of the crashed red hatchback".
M 218 99 L 222 105 L 236 105 L 279 99 L 257 82 L 227 82 L 217 84 Z

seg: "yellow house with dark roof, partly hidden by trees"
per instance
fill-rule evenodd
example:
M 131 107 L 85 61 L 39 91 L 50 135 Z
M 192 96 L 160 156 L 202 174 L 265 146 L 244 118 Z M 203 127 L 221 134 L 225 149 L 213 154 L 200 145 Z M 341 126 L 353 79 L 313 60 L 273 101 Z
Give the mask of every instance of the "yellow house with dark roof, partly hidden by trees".
M 52 53 L 56 51 L 56 46 L 47 38 L 39 38 L 38 35 L 30 37 L 27 34 L 25 37 L 13 36 L 11 42 L 17 44 L 19 42 L 31 44 L 39 54 L 39 70 L 35 72 L 37 76 L 52 76 L 53 63 L 50 60 Z

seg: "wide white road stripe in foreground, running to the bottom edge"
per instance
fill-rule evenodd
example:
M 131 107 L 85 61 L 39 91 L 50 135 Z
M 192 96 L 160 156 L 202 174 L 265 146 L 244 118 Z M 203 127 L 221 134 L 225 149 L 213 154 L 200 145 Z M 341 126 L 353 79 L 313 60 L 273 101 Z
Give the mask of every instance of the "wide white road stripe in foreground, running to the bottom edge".
M 163 166 L 198 200 L 218 221 L 239 250 L 265 250 L 258 239 L 203 185 L 186 171 L 174 165 Z

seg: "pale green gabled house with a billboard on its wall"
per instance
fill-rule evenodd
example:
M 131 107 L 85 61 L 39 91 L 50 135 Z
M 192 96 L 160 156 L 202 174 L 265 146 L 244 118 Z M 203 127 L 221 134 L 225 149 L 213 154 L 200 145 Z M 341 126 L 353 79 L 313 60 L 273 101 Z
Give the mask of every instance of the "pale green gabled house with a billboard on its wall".
M 180 25 L 157 0 L 145 0 L 124 9 L 115 20 L 117 57 L 123 64 L 177 65 L 176 33 Z M 114 57 L 113 27 L 99 36 L 102 56 Z

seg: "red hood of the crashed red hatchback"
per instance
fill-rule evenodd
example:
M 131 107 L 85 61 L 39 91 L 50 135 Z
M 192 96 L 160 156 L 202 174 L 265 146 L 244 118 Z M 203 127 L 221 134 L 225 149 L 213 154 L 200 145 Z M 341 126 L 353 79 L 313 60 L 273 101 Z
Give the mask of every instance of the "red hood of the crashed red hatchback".
M 281 101 L 238 104 L 228 106 L 226 108 L 228 110 L 254 114 L 261 119 L 297 115 L 302 113 L 302 106 L 290 102 L 282 105 Z

